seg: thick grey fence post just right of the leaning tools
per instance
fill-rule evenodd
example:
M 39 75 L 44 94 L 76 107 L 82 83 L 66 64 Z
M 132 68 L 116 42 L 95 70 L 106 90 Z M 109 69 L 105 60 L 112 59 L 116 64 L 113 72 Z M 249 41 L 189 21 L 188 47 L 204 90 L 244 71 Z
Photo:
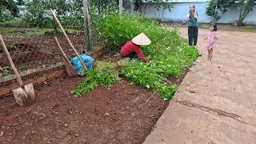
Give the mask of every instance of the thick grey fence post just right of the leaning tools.
M 92 47 L 92 38 L 91 38 L 91 27 L 90 27 L 90 3 L 88 0 L 82 0 L 82 10 L 84 14 L 84 22 L 85 22 L 85 31 L 86 31 L 86 39 L 88 50 L 93 50 Z

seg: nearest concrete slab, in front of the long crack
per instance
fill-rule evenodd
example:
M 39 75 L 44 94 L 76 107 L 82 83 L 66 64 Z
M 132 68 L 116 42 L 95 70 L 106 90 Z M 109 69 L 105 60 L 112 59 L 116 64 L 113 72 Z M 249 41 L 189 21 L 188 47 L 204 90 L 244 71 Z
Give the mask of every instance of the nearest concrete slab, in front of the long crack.
M 144 144 L 256 143 L 256 127 L 170 101 Z

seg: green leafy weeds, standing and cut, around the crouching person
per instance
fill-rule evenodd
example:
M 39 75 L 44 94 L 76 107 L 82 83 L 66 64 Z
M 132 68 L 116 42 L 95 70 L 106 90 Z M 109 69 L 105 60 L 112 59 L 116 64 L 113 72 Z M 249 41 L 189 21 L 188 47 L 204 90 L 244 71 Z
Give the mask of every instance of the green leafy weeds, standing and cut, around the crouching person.
M 167 77 L 181 77 L 182 72 L 189 69 L 198 57 L 198 50 L 187 46 L 186 40 L 179 36 L 177 28 L 166 30 L 165 26 L 157 25 L 148 18 L 134 15 L 120 18 L 118 14 L 109 14 L 102 19 L 98 30 L 114 52 L 118 52 L 124 43 L 136 35 L 145 33 L 152 43 L 142 46 L 142 51 L 150 62 L 97 62 L 97 67 L 90 71 L 85 82 L 72 91 L 76 96 L 86 94 L 98 85 L 110 87 L 121 77 L 125 77 L 131 84 L 153 89 L 159 97 L 168 100 L 173 97 L 178 86 L 172 85 Z

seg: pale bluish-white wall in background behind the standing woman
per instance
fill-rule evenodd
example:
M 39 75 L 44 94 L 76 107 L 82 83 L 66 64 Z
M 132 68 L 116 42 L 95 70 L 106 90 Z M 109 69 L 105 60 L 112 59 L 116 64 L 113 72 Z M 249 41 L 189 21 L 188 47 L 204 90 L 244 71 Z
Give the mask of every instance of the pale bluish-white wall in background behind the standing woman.
M 158 18 L 162 20 L 162 22 L 181 22 L 186 20 L 186 14 L 189 12 L 191 4 L 194 4 L 195 10 L 198 12 L 198 22 L 211 22 L 213 20 L 213 18 L 206 15 L 208 2 L 174 2 L 171 11 L 162 9 L 162 7 L 158 11 L 154 8 L 154 3 L 148 3 L 147 6 L 145 4 L 143 5 L 142 13 L 144 13 L 146 7 L 146 17 Z M 238 17 L 239 10 L 228 10 L 222 15 L 222 18 L 218 20 L 218 23 L 233 23 Z M 256 6 L 254 6 L 253 11 L 250 11 L 247 15 L 244 23 L 256 25 Z

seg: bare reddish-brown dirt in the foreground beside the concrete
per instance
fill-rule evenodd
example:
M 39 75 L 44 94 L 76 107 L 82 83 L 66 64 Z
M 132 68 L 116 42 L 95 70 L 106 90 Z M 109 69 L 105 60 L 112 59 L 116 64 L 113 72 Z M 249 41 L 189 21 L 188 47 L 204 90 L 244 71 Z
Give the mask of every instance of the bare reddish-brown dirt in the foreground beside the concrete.
M 0 99 L 0 143 L 142 143 L 169 104 L 126 80 L 74 98 L 78 81 L 34 86 L 36 101 L 27 107 Z

